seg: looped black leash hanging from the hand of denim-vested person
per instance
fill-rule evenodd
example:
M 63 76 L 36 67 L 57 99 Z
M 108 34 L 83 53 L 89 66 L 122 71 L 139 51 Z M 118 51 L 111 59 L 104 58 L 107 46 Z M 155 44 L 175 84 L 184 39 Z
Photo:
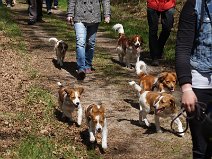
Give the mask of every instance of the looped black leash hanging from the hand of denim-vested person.
M 180 112 L 178 113 L 178 115 L 175 118 L 173 118 L 172 121 L 171 121 L 171 124 L 170 124 L 171 130 L 175 134 L 185 133 L 188 130 L 188 121 L 189 120 L 196 119 L 199 122 L 203 122 L 206 119 L 206 116 L 207 116 L 206 109 L 207 109 L 207 105 L 205 103 L 203 103 L 203 102 L 196 102 L 196 104 L 195 104 L 195 111 L 192 114 L 190 114 L 190 116 L 186 116 L 186 115 L 183 114 L 185 112 L 185 108 L 182 107 L 181 110 L 180 110 Z M 179 132 L 179 131 L 176 131 L 173 128 L 173 123 L 181 115 L 183 115 L 185 117 L 185 119 L 186 119 L 186 127 L 185 127 L 185 129 L 182 132 Z

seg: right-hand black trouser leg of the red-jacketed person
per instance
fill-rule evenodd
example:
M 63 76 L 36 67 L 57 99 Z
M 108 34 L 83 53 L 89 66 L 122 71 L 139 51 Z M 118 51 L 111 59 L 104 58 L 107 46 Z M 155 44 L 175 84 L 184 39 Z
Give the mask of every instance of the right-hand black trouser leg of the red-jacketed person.
M 158 39 L 158 44 L 159 44 L 158 58 L 162 58 L 164 46 L 166 44 L 167 39 L 169 38 L 171 29 L 173 27 L 174 12 L 175 12 L 175 9 L 171 8 L 161 13 L 162 31 Z

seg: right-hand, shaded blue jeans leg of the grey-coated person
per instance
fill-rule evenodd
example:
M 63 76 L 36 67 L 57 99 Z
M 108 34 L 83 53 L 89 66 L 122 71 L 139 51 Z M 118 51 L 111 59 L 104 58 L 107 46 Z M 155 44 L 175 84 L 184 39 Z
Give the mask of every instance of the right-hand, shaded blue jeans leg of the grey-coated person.
M 99 23 L 87 26 L 86 50 L 85 50 L 85 69 L 92 67 L 94 49 L 96 43 L 96 33 Z

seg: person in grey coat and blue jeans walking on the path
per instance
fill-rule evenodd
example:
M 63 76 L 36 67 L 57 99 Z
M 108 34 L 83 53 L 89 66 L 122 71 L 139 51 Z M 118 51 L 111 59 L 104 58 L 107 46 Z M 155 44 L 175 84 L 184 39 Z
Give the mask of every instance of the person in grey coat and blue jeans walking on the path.
M 67 21 L 74 24 L 78 80 L 92 72 L 96 33 L 101 22 L 101 8 L 106 23 L 110 22 L 110 0 L 69 0 Z

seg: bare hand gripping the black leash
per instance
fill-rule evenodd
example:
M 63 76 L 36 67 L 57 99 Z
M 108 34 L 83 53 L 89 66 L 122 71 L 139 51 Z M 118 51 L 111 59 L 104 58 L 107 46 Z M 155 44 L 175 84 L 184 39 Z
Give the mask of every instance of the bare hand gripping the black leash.
M 182 104 L 187 112 L 195 111 L 197 97 L 191 88 L 191 84 L 184 84 L 182 87 Z

